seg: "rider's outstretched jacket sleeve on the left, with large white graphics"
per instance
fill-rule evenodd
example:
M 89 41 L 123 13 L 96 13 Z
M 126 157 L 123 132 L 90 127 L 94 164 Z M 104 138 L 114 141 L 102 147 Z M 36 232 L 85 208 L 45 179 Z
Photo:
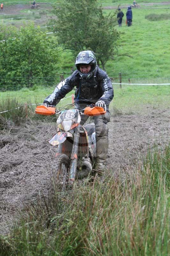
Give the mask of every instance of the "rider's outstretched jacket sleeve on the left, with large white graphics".
M 43 103 L 48 103 L 49 105 L 55 106 L 62 98 L 65 97 L 68 92 L 72 91 L 73 87 L 74 83 L 71 80 L 71 76 L 69 76 L 57 84 L 54 92 L 45 98 Z

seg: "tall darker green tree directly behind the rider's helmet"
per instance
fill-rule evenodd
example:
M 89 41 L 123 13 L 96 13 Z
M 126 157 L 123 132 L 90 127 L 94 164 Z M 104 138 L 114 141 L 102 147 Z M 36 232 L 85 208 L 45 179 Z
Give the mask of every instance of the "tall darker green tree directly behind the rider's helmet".
M 74 54 L 81 50 L 92 50 L 104 68 L 113 58 L 116 40 L 115 14 L 103 15 L 97 0 L 59 0 L 54 5 L 57 20 L 51 20 L 57 31 L 59 43 Z

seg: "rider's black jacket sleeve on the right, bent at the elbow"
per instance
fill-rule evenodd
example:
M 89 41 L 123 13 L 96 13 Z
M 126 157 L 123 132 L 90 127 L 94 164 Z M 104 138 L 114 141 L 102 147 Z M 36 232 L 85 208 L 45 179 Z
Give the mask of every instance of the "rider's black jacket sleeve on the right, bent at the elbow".
M 106 76 L 100 81 L 100 86 L 102 88 L 102 96 L 99 100 L 103 100 L 106 105 L 109 105 L 114 97 L 113 86 L 110 78 Z

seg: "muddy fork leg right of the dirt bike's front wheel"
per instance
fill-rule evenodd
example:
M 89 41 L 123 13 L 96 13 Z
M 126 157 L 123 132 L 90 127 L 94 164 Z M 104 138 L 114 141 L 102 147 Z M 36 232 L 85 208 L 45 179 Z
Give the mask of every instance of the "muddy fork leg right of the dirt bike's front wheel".
M 78 142 L 80 137 L 80 125 L 76 127 L 74 142 L 71 153 L 71 162 L 70 162 L 70 172 L 69 172 L 69 180 L 74 181 L 76 177 L 77 170 L 77 162 L 78 162 Z

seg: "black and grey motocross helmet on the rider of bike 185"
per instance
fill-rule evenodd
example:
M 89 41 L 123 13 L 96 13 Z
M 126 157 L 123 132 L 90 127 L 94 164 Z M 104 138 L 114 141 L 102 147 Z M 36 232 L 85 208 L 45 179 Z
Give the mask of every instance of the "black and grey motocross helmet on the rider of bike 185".
M 89 73 L 81 73 L 79 66 L 83 64 L 91 65 L 91 70 Z M 79 52 L 75 60 L 75 65 L 77 67 L 78 73 L 80 74 L 81 78 L 88 80 L 94 74 L 95 68 L 97 66 L 95 53 L 92 51 Z

